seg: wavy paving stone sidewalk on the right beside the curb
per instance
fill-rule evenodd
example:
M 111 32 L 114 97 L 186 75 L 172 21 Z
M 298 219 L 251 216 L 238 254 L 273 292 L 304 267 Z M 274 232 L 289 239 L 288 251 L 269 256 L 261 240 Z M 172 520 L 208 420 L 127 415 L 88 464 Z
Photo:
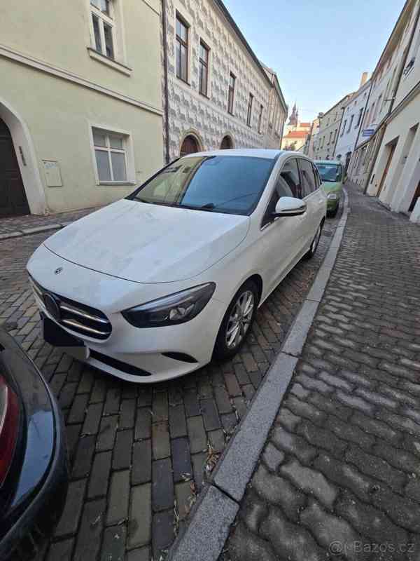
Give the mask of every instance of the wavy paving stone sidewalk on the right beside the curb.
M 420 228 L 349 203 L 223 561 L 420 560 Z

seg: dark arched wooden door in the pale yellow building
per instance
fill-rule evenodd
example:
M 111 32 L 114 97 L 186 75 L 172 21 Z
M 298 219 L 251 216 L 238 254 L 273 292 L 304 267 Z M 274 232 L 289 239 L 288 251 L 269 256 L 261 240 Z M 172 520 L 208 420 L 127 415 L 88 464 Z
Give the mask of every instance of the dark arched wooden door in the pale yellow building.
M 0 119 L 0 218 L 29 214 L 12 135 Z

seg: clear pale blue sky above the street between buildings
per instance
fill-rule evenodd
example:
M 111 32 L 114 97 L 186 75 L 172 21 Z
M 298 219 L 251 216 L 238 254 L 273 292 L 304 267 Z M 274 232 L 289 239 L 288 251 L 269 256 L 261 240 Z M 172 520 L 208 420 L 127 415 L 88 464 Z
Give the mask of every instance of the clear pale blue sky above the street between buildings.
M 225 0 L 286 103 L 309 121 L 374 69 L 405 0 Z

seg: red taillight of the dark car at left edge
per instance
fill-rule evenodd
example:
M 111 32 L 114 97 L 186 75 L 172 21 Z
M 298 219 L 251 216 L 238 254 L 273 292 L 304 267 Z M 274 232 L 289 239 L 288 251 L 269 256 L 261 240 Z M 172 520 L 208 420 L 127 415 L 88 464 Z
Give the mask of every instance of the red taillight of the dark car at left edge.
M 13 460 L 18 431 L 18 397 L 0 376 L 0 485 L 6 479 Z

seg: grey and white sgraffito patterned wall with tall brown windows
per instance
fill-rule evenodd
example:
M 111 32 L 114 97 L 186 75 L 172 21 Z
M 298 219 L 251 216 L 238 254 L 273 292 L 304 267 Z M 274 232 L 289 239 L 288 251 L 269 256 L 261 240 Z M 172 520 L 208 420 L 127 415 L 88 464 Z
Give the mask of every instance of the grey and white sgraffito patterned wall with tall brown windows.
M 175 20 L 177 11 L 190 25 L 188 32 L 190 43 L 189 84 L 178 79 L 175 74 Z M 201 95 L 198 90 L 200 39 L 207 43 L 211 49 L 209 99 Z M 216 4 L 212 0 L 168 0 L 167 46 L 169 158 L 179 156 L 181 143 L 188 132 L 195 133 L 204 150 L 220 148 L 225 135 L 232 137 L 235 148 L 262 148 L 265 141 L 264 133 L 267 130 L 270 86 L 251 55 L 223 18 Z M 237 77 L 235 116 L 228 114 L 227 110 L 230 72 Z M 162 72 L 162 93 L 164 92 L 164 73 Z M 251 128 L 246 125 L 250 93 L 254 96 Z M 165 99 L 163 104 L 165 107 Z M 261 104 L 264 110 L 262 134 L 259 134 L 257 129 Z

